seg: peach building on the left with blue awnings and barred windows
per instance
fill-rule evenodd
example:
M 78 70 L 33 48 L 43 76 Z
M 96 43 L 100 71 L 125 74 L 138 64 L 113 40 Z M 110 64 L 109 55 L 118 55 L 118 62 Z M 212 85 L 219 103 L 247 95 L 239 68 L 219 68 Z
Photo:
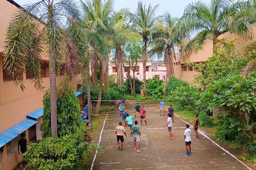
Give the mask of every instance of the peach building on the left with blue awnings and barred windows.
M 22 162 L 23 156 L 18 155 L 18 140 L 20 134 L 25 133 L 28 142 L 41 139 L 40 125 L 43 116 L 43 95 L 50 87 L 48 57 L 42 56 L 41 73 L 43 74 L 42 89 L 37 91 L 31 83 L 29 70 L 23 74 L 26 89 L 14 85 L 13 79 L 3 68 L 2 56 L 6 28 L 12 15 L 19 6 L 12 0 L 0 0 L 0 170 L 13 170 Z M 65 75 L 65 68 L 57 73 L 57 84 Z M 73 83 L 76 87 L 80 83 L 79 78 Z M 81 92 L 75 92 L 82 102 Z

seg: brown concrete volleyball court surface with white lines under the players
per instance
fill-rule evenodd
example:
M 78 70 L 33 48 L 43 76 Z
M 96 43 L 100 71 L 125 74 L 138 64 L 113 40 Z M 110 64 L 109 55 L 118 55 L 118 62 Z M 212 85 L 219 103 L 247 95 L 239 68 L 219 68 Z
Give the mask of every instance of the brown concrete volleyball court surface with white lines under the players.
M 133 108 L 134 105 L 127 107 L 128 110 L 133 110 Z M 145 106 L 145 109 L 156 110 L 158 109 L 158 104 Z M 165 110 L 167 111 L 166 106 Z M 184 130 L 186 123 L 175 116 L 175 123 L 173 124 L 172 128 L 174 139 L 170 139 L 170 137 L 168 137 L 168 129 L 163 126 L 167 122 L 167 117 L 159 117 L 159 111 L 148 111 L 148 115 L 146 115 L 148 126 L 145 126 L 144 121 L 143 126 L 140 126 L 141 153 L 137 153 L 133 150 L 133 140 L 128 134 L 130 129 L 126 129 L 127 138 L 125 138 L 124 141 L 125 150 L 119 151 L 116 142 L 115 128 L 121 119 L 118 115 L 113 115 L 118 114 L 118 109 L 115 109 L 114 112 L 115 111 L 117 112 L 109 113 L 106 118 L 100 142 L 103 145 L 103 150 L 99 156 L 96 156 L 93 166 L 94 170 L 162 170 L 166 168 L 175 170 L 248 169 L 238 160 L 231 157 L 231 155 L 225 154 L 225 151 L 217 147 L 212 141 L 201 134 L 199 134 L 200 141 L 195 141 L 196 135 L 193 129 L 191 129 L 192 155 L 190 157 L 184 156 L 186 153 L 184 141 Z M 132 115 L 134 114 L 134 112 L 131 113 Z M 133 118 L 133 122 L 134 120 L 138 120 L 138 124 L 140 124 L 139 116 Z M 200 129 L 201 128 L 199 126 L 199 130 Z M 96 139 L 95 142 L 98 143 L 98 139 Z M 91 160 L 93 160 L 93 158 Z M 88 169 L 90 169 L 90 167 L 88 167 Z

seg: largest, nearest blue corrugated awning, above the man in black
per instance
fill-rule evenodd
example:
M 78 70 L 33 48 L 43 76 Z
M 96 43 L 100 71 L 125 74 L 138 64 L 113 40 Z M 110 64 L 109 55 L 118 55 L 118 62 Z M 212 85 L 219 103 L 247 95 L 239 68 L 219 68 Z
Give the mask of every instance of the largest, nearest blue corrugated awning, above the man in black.
M 25 119 L 25 120 L 19 122 L 18 124 L 15 124 L 8 130 L 0 133 L 0 147 L 4 146 L 6 143 L 10 142 L 16 136 L 23 133 L 31 126 L 33 126 L 35 123 L 37 123 L 37 121 L 31 120 L 31 119 Z

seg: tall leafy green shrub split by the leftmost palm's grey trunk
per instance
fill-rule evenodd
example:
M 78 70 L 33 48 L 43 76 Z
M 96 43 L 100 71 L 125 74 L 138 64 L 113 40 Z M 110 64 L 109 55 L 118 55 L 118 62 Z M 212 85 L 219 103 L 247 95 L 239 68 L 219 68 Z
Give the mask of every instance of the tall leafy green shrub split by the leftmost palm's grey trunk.
M 73 88 L 64 80 L 57 87 L 57 127 L 58 136 L 74 134 L 82 126 L 79 100 Z M 51 94 L 45 91 L 43 104 L 42 136 L 51 137 Z

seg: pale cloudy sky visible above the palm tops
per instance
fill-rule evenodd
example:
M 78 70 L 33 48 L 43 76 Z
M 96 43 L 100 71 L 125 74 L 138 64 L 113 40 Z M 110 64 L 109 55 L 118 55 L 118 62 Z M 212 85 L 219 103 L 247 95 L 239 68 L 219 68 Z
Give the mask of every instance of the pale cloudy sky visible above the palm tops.
M 28 2 L 38 2 L 38 0 L 14 0 L 20 5 L 24 5 Z M 80 4 L 80 0 L 74 0 Z M 85 0 L 83 0 L 85 1 Z M 173 17 L 181 17 L 184 8 L 188 3 L 195 2 L 197 0 L 143 0 L 146 6 L 149 4 L 155 6 L 159 3 L 159 8 L 156 15 L 163 15 L 164 12 L 168 11 Z M 201 0 L 202 2 L 209 3 L 211 0 Z M 121 8 L 128 7 L 130 11 L 134 12 L 137 8 L 138 0 L 115 0 L 115 11 L 119 11 Z

